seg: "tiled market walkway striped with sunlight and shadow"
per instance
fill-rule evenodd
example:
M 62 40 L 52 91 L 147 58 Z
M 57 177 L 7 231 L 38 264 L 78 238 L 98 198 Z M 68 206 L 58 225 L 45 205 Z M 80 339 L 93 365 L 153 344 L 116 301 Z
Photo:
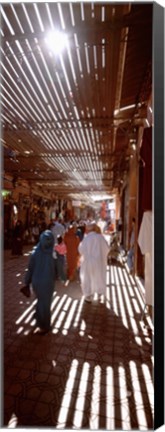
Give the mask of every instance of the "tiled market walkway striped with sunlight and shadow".
M 153 428 L 153 325 L 126 268 L 107 267 L 107 296 L 85 303 L 55 284 L 52 333 L 35 333 L 20 293 L 29 259 L 4 254 L 4 427 Z

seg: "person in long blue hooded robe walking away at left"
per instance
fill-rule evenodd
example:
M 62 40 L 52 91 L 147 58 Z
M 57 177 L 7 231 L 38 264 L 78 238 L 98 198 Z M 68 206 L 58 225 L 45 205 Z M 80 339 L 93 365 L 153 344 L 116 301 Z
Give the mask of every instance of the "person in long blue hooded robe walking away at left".
M 52 232 L 50 230 L 43 231 L 39 243 L 30 256 L 28 270 L 25 274 L 25 285 L 32 284 L 38 300 L 35 318 L 41 334 L 51 330 L 51 302 L 55 280 L 53 246 Z

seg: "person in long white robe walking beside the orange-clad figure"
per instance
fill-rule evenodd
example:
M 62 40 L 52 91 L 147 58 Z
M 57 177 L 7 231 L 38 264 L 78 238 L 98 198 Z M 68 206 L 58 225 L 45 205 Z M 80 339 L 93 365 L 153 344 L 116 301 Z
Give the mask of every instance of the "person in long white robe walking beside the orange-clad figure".
M 86 235 L 79 244 L 80 281 L 85 300 L 90 302 L 94 293 L 106 294 L 106 268 L 109 246 L 104 236 L 96 232 L 96 224 L 86 226 Z

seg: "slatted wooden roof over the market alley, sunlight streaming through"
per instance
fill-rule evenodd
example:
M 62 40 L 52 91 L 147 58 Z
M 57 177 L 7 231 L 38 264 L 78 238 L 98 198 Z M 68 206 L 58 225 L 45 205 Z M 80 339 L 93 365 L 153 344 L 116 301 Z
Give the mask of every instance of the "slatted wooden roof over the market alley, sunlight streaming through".
M 118 189 L 152 91 L 152 7 L 1 4 L 5 172 L 61 197 Z M 46 42 L 55 30 L 60 54 Z

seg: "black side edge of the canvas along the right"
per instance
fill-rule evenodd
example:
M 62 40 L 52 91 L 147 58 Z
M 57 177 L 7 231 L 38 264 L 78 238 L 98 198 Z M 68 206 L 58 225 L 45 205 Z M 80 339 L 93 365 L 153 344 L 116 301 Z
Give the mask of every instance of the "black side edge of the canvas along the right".
M 164 424 L 164 8 L 153 4 L 154 430 Z

